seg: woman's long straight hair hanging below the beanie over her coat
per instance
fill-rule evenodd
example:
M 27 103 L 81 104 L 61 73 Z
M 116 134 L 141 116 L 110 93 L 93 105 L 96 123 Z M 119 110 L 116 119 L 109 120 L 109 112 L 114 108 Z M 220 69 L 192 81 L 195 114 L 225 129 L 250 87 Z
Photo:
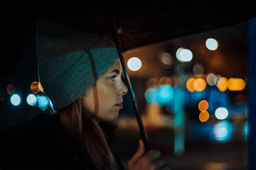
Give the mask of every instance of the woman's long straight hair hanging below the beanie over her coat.
M 61 124 L 88 153 L 97 169 L 117 169 L 115 159 L 108 145 L 107 136 L 100 125 L 92 121 L 90 114 L 82 107 L 82 98 L 56 113 Z

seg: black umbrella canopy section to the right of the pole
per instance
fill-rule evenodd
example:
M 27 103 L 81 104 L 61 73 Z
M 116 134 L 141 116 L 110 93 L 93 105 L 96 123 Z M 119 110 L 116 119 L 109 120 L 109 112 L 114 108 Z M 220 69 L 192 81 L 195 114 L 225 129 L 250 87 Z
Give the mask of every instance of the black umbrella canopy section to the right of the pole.
M 238 1 L 169 1 L 131 12 L 119 8 L 115 13 L 123 50 L 236 25 L 256 16 L 252 4 Z

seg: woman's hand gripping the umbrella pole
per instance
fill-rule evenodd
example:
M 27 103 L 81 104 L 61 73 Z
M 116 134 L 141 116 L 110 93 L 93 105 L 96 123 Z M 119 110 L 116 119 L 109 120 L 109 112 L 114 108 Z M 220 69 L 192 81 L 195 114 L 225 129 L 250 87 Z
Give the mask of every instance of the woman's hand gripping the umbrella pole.
M 128 170 L 155 170 L 164 166 L 164 162 L 157 160 L 161 156 L 159 150 L 149 150 L 145 153 L 145 146 L 141 139 L 139 143 L 138 150 L 133 157 L 128 160 Z

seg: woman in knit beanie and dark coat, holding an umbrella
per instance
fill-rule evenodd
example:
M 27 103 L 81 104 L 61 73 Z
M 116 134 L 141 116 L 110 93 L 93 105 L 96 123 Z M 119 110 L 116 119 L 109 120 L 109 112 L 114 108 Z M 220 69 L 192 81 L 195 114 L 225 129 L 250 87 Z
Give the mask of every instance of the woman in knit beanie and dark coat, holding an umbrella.
M 99 125 L 118 117 L 127 93 L 115 44 L 41 20 L 36 26 L 36 55 L 38 77 L 54 114 L 37 115 L 18 127 L 19 144 L 6 140 L 3 167 L 124 169 Z M 5 132 L 3 139 L 14 131 Z M 158 150 L 145 153 L 140 140 L 127 167 L 158 169 L 163 166 L 155 161 L 159 157 Z

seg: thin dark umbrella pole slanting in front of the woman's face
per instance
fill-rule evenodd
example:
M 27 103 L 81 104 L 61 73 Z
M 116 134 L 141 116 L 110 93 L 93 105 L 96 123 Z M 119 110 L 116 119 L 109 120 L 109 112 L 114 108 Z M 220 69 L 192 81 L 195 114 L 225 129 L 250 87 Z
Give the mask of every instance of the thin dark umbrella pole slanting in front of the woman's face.
M 118 51 L 118 55 L 119 55 L 119 58 L 120 58 L 122 68 L 124 70 L 125 79 L 127 80 L 128 84 L 129 84 L 128 91 L 129 91 L 129 94 L 131 96 L 132 106 L 134 108 L 136 119 L 137 119 L 137 122 L 138 122 L 138 125 L 139 125 L 139 128 L 140 128 L 141 139 L 143 140 L 143 143 L 145 145 L 145 152 L 148 152 L 148 150 L 149 150 L 148 138 L 147 138 L 147 134 L 144 130 L 143 123 L 141 121 L 141 116 L 140 116 L 140 113 L 139 113 L 139 110 L 138 110 L 138 104 L 137 104 L 137 101 L 135 99 L 134 91 L 132 90 L 132 85 L 131 85 L 131 81 L 130 81 L 130 78 L 129 78 L 128 73 L 127 73 L 127 69 L 125 67 L 124 56 L 122 54 L 122 50 L 121 50 L 120 43 L 119 43 L 119 40 L 118 40 L 118 35 L 116 33 L 114 15 L 113 15 L 113 13 L 109 13 L 109 14 L 110 14 L 109 18 L 108 18 L 109 25 L 111 27 L 111 31 L 112 31 L 112 34 L 113 34 L 114 39 L 115 39 L 115 44 L 116 44 L 116 48 L 117 48 L 117 51 Z

